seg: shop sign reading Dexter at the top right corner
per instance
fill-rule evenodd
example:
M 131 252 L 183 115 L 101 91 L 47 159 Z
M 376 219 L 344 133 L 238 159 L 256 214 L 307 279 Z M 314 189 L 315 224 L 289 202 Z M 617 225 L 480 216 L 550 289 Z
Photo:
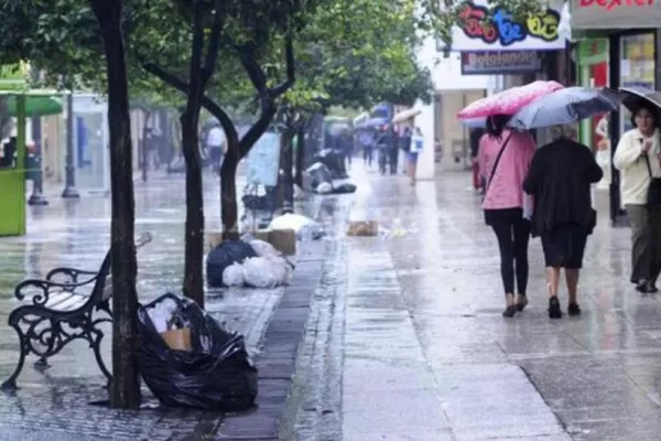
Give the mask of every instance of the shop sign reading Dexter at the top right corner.
M 659 0 L 572 0 L 572 29 L 643 29 L 659 23 Z

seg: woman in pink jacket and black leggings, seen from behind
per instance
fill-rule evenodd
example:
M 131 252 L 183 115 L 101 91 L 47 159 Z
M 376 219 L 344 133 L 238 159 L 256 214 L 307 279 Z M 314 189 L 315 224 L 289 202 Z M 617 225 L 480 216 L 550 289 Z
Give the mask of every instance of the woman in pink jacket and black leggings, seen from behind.
M 535 147 L 529 132 L 507 128 L 508 121 L 509 117 L 505 115 L 487 119 L 487 135 L 480 140 L 478 160 L 487 182 L 483 202 L 485 219 L 496 233 L 500 250 L 500 276 L 507 302 L 502 315 L 511 318 L 528 304 L 530 220 L 523 218 L 525 197 L 522 187 Z

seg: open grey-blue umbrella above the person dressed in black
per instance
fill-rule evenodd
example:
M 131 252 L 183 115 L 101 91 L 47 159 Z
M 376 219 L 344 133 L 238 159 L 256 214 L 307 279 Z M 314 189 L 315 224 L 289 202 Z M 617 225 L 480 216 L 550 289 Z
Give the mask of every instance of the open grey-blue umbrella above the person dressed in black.
M 616 110 L 622 95 L 608 88 L 567 87 L 535 99 L 519 110 L 508 126 L 517 129 L 573 123 Z

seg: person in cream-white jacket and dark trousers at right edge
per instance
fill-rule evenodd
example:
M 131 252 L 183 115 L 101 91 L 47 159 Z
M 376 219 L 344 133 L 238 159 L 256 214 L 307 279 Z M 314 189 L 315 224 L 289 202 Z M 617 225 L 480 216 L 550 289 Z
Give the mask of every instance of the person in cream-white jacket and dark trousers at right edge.
M 613 158 L 621 172 L 622 204 L 631 224 L 631 282 L 643 293 L 658 291 L 661 272 L 661 209 L 647 204 L 651 178 L 661 178 L 658 111 L 643 104 L 633 112 L 635 129 L 622 135 Z

